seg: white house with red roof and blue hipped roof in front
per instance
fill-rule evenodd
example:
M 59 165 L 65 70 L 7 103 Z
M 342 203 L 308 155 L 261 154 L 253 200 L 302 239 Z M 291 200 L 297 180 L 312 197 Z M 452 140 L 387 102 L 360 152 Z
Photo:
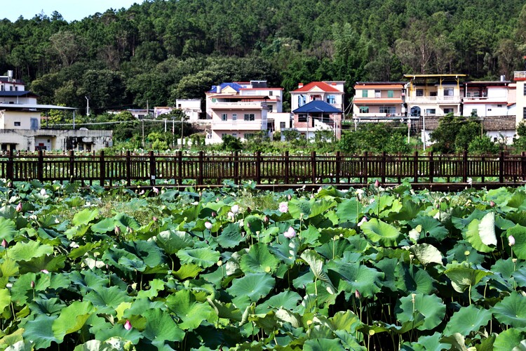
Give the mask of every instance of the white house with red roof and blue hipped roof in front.
M 311 81 L 298 84 L 290 92 L 294 128 L 313 138 L 316 131 L 330 130 L 336 138 L 342 135 L 345 81 Z

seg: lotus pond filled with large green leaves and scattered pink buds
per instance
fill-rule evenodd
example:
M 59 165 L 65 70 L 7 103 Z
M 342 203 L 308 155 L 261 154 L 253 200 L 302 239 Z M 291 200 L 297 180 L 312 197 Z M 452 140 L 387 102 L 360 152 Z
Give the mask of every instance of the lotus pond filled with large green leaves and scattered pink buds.
M 0 180 L 0 240 L 2 350 L 526 348 L 525 187 Z

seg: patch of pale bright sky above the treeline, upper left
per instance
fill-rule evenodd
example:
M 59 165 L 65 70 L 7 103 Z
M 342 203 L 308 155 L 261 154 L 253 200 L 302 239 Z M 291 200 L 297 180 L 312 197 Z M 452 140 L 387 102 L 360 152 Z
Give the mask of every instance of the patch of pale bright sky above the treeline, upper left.
M 30 20 L 41 12 L 51 17 L 53 11 L 60 13 L 67 22 L 72 22 L 82 20 L 97 12 L 104 13 L 108 8 L 119 10 L 129 8 L 135 3 L 142 4 L 142 0 L 21 0 L 8 2 L 11 4 L 2 6 L 0 18 L 7 18 L 11 22 L 15 22 L 20 16 Z

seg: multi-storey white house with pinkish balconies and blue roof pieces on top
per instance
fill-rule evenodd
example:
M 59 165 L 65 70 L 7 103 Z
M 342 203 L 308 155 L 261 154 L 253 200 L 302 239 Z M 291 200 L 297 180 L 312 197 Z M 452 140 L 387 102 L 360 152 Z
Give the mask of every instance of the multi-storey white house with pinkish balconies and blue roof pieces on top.
M 283 110 L 283 88 L 269 88 L 267 81 L 229 82 L 212 86 L 206 95 L 206 115 L 212 120 L 207 143 L 221 143 L 224 135 L 247 140 L 255 133 L 271 136 L 271 112 Z

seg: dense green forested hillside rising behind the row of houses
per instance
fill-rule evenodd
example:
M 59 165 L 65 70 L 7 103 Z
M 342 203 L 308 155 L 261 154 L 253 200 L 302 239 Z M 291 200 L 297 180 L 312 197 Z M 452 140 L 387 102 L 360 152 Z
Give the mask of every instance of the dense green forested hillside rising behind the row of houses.
M 526 54 L 522 0 L 151 0 L 71 23 L 0 21 L 0 74 L 40 102 L 95 111 L 173 105 L 221 81 L 511 77 Z M 1 15 L 0 15 L 1 16 Z M 350 96 L 350 94 L 348 95 Z

